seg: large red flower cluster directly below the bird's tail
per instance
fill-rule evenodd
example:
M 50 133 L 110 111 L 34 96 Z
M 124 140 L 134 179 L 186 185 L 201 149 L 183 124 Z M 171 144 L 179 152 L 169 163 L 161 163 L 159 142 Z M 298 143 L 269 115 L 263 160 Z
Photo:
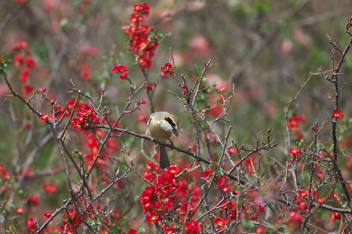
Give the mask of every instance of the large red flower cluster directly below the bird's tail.
M 180 167 L 178 166 L 172 165 L 168 167 L 167 172 L 155 174 L 159 166 L 153 161 L 148 161 L 146 164 L 148 167 L 143 172 L 143 175 L 153 183 L 153 186 L 147 186 L 139 198 L 140 204 L 144 209 L 144 214 L 146 214 L 145 222 L 149 221 L 151 224 L 161 222 L 161 227 L 165 229 L 166 233 L 180 232 L 181 228 L 176 227 L 173 223 L 167 224 L 163 220 L 163 214 L 169 212 L 174 206 L 176 195 L 171 196 L 174 192 L 184 200 L 183 205 L 176 210 L 177 214 L 174 213 L 174 219 L 184 219 L 187 211 L 190 213 L 195 212 L 195 205 L 192 203 L 188 204 L 187 202 L 187 194 L 191 192 L 191 190 L 187 189 L 188 183 L 184 179 L 179 180 L 175 178 L 175 175 L 180 172 Z M 185 223 L 184 232 L 198 233 L 200 228 L 199 223 L 191 220 Z

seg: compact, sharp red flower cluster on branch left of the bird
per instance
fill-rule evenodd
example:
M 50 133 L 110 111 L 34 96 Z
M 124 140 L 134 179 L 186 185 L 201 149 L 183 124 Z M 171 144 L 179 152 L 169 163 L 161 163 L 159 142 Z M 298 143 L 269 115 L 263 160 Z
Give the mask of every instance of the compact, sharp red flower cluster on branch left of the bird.
M 78 112 L 77 117 L 72 120 L 75 130 L 81 130 L 87 136 L 89 127 L 93 124 L 99 124 L 100 117 L 95 114 L 94 108 L 82 109 Z

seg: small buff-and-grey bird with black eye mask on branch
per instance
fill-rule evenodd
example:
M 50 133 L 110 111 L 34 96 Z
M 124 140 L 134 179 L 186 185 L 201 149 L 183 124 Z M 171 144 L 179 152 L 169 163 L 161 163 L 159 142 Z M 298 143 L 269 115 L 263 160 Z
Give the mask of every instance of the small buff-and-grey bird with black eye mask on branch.
M 166 111 L 154 112 L 149 116 L 147 126 L 149 134 L 156 144 L 170 140 L 172 133 L 178 138 L 178 119 Z M 174 148 L 174 142 L 170 140 L 170 149 Z M 170 166 L 166 147 L 159 145 L 159 167 L 165 169 Z

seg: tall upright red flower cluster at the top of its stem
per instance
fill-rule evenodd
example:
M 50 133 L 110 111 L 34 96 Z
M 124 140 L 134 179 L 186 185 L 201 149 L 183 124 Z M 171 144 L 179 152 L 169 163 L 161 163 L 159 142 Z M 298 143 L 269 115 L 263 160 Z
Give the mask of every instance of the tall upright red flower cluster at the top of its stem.
M 122 28 L 130 40 L 129 49 L 134 51 L 134 59 L 142 69 L 150 68 L 151 58 L 159 45 L 154 28 L 141 24 L 144 21 L 144 16 L 149 15 L 149 9 L 150 7 L 146 3 L 134 5 L 130 18 L 132 24 Z

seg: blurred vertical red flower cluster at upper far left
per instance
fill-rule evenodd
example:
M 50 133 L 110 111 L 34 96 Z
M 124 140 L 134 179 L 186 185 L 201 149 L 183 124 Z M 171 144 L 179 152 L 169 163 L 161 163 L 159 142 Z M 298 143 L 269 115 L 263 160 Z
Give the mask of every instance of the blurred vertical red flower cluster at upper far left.
M 23 83 L 22 96 L 29 96 L 34 90 L 34 87 L 29 83 L 29 73 L 30 69 L 34 69 L 37 64 L 36 60 L 31 57 L 31 50 L 27 47 L 28 43 L 23 40 L 19 40 L 17 44 L 11 46 L 11 49 L 17 52 L 13 60 L 16 61 L 15 67 L 21 71 L 18 80 Z

